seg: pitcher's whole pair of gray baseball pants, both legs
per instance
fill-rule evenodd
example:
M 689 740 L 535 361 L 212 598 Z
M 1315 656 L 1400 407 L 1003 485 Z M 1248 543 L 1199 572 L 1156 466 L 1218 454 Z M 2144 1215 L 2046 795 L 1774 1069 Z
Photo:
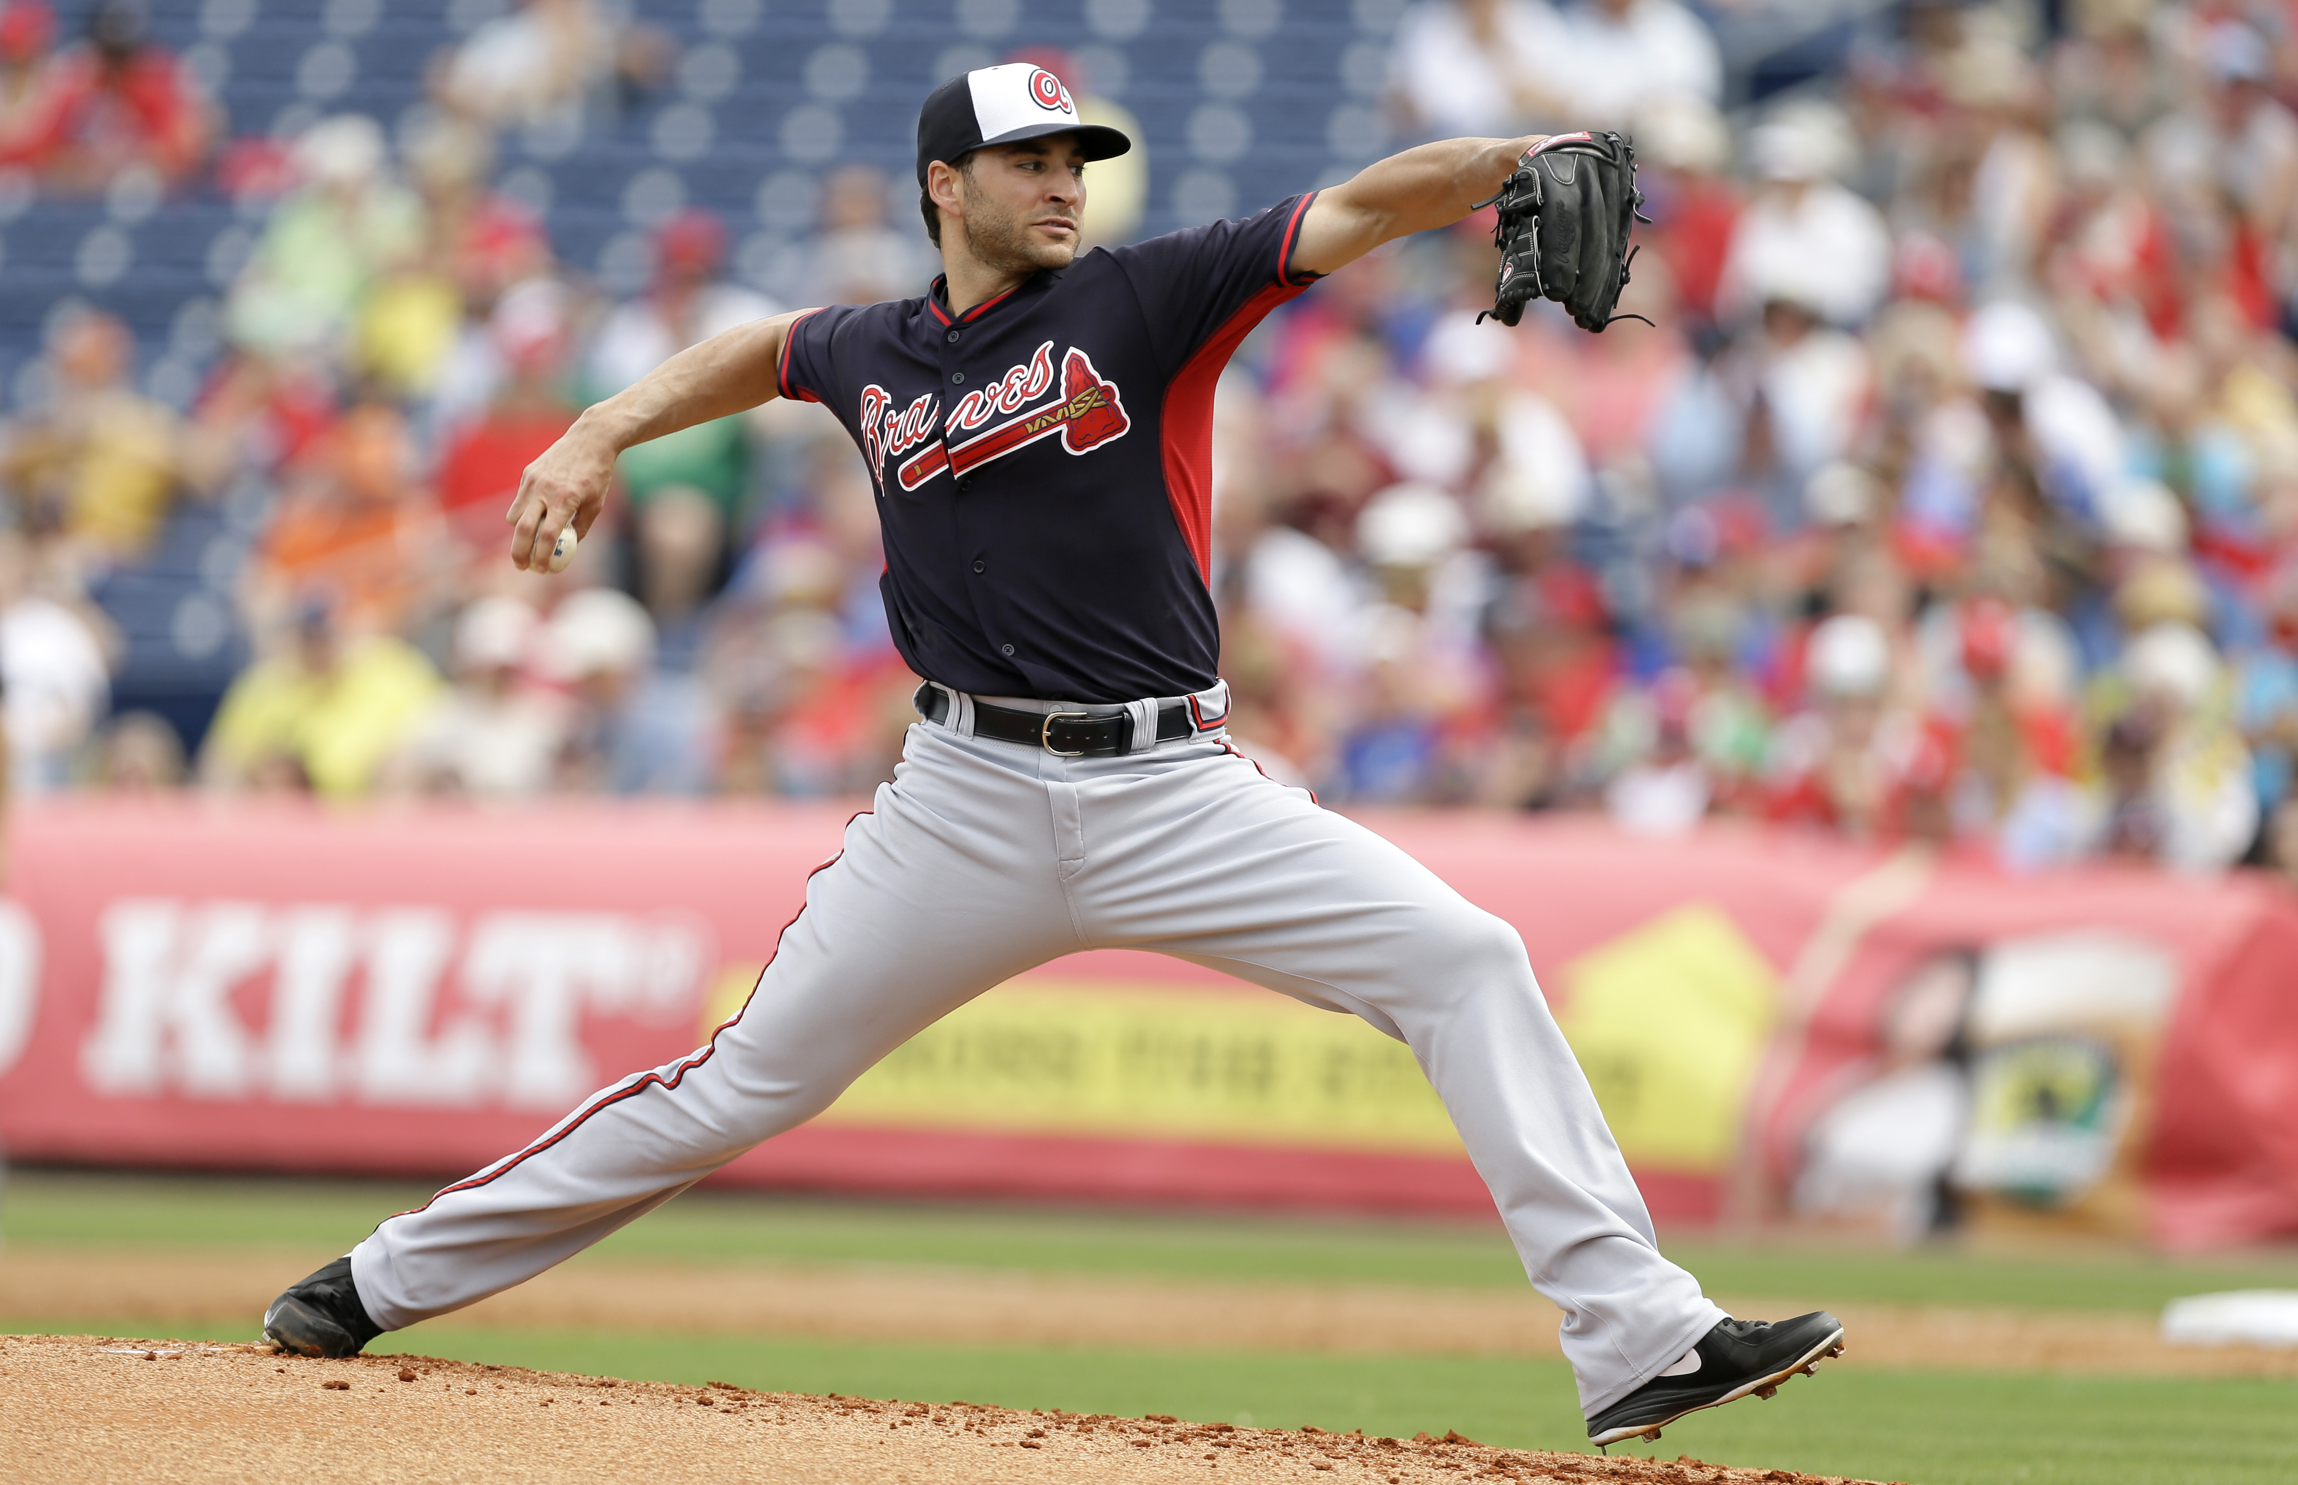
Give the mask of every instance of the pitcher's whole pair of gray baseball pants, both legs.
M 1218 717 L 1227 694 L 1200 703 Z M 1514 929 L 1262 777 L 1218 726 L 1062 759 L 974 738 L 970 722 L 970 699 L 954 697 L 944 722 L 910 729 L 894 782 L 807 883 L 749 1005 L 710 1046 L 602 1090 L 352 1251 L 379 1326 L 446 1315 L 579 1253 L 807 1122 L 981 991 L 1080 949 L 1174 954 L 1409 1044 L 1533 1287 L 1565 1313 L 1583 1411 L 1724 1319 L 1659 1255 Z

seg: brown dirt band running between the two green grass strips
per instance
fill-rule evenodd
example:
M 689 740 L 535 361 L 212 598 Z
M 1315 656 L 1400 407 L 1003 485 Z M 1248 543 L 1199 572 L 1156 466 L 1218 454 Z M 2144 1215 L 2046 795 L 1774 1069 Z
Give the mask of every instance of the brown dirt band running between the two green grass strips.
M 306 1257 L 216 1253 L 0 1255 L 0 1317 L 246 1324 Z M 2298 1377 L 2298 1352 L 2165 1345 L 2146 1315 L 1726 1299 L 1735 1315 L 1834 1310 L 1850 1365 Z M 648 1329 L 825 1340 L 949 1340 L 1422 1356 L 1556 1356 L 1530 1292 L 1236 1285 L 1078 1274 L 834 1264 L 639 1264 L 586 1257 L 455 1315 L 455 1326 Z M 421 1331 L 411 1336 L 421 1345 Z

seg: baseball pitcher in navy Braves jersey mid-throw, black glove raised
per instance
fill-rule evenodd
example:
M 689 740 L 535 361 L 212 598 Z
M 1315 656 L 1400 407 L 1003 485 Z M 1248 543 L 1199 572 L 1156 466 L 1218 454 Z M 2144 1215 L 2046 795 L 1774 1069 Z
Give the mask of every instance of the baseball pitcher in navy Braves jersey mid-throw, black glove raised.
M 1827 1313 L 1733 1319 L 1659 1255 L 1517 933 L 1262 777 L 1223 729 L 1209 464 L 1239 340 L 1317 278 L 1487 200 L 1494 315 L 1517 324 L 1547 297 L 1599 331 L 1627 283 L 1632 149 L 1443 140 L 1246 221 L 1080 255 L 1087 163 L 1128 147 L 1041 67 L 942 83 L 917 120 L 944 269 L 926 294 L 705 340 L 526 469 L 510 556 L 547 570 L 632 444 L 768 398 L 820 402 L 876 480 L 885 611 L 924 678 L 921 720 L 708 1046 L 384 1221 L 273 1301 L 278 1347 L 347 1356 L 531 1278 L 813 1117 L 988 986 L 1080 949 L 1151 949 L 1411 1046 L 1565 1315 L 1597 1444 L 1769 1395 L 1841 1349 Z

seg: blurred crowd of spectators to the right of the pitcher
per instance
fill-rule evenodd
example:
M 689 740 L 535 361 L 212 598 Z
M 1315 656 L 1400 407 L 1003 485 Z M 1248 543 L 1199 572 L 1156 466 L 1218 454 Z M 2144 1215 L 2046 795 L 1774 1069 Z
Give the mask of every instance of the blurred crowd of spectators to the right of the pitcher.
M 1717 55 L 1675 0 L 1404 21 L 1422 133 L 1634 133 L 1655 329 L 1475 324 L 1480 221 L 1264 338 L 1248 752 L 1344 802 L 2298 864 L 2289 11 L 1926 0 L 1735 115 Z

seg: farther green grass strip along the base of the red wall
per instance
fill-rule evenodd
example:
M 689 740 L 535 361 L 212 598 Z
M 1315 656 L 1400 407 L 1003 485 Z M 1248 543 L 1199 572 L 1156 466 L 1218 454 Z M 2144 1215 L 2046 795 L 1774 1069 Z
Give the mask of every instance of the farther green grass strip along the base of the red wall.
M 18 1172 L 0 1234 L 25 1246 L 161 1244 L 342 1253 L 425 1186 Z M 1668 1239 L 1712 1294 L 2153 1313 L 2179 1294 L 2298 1287 L 2298 1253 L 2167 1260 Z M 1223 1218 L 1023 1207 L 912 1207 L 694 1191 L 597 1246 L 614 1260 L 784 1260 L 1149 1274 L 1227 1280 L 1519 1287 L 1489 1223 Z

